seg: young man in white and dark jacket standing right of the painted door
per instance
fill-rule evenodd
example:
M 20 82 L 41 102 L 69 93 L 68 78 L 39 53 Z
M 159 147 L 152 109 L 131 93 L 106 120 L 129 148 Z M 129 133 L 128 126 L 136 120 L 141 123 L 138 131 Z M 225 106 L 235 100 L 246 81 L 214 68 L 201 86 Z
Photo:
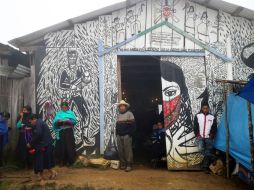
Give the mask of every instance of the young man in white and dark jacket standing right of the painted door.
M 199 149 L 204 156 L 202 167 L 208 172 L 209 165 L 213 161 L 213 139 L 217 131 L 216 118 L 209 113 L 209 104 L 202 102 L 201 111 L 194 118 L 194 133 Z

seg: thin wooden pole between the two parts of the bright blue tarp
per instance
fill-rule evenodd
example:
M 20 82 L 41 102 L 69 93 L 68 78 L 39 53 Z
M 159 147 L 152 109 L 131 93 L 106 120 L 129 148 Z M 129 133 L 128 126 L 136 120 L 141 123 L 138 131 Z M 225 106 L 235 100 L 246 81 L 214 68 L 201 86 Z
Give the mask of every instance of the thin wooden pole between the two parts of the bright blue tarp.
M 224 102 L 225 102 L 225 128 L 226 128 L 226 169 L 227 178 L 229 178 L 229 129 L 228 129 L 228 106 L 227 106 L 227 89 L 226 84 L 223 84 Z

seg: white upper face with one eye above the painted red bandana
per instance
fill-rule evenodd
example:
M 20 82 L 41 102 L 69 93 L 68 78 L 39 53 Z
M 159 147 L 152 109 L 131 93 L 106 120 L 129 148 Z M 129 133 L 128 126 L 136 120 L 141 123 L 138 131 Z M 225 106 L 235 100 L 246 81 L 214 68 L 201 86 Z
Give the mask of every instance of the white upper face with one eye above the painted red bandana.
M 171 101 L 181 94 L 179 85 L 176 82 L 170 82 L 162 78 L 162 96 L 163 101 Z

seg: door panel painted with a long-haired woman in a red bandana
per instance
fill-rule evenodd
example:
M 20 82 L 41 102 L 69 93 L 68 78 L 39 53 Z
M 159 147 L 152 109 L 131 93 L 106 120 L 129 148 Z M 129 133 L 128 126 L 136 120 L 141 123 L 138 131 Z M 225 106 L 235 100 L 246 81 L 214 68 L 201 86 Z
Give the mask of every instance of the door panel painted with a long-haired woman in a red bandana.
M 168 57 L 162 60 L 162 96 L 168 168 L 188 168 L 202 161 L 192 123 L 193 113 L 199 111 L 195 109 L 196 105 L 200 105 L 197 98 L 206 89 L 204 63 L 202 58 L 200 60 L 200 58 Z M 199 65 L 201 69 L 195 70 Z M 194 76 L 199 76 L 198 82 Z

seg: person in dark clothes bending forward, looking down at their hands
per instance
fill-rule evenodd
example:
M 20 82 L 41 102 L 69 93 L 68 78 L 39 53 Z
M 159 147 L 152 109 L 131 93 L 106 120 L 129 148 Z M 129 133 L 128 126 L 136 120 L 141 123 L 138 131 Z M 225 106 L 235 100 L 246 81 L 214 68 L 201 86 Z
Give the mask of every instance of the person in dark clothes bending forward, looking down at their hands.
M 50 130 L 36 114 L 29 118 L 32 127 L 32 140 L 27 143 L 30 154 L 34 154 L 34 172 L 39 174 L 39 180 L 43 182 L 45 177 L 43 170 L 50 172 L 50 179 L 54 179 L 57 173 L 52 169 L 54 167 L 53 157 L 53 139 Z

